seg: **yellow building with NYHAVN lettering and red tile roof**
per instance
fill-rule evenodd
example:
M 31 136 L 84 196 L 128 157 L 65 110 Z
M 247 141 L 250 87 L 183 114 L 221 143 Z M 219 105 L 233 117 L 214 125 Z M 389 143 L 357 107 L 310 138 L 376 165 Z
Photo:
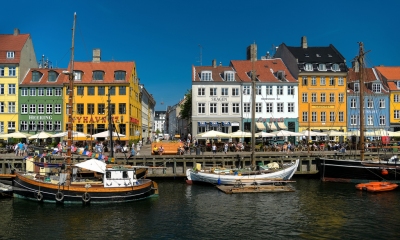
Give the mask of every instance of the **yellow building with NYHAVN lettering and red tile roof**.
M 100 49 L 94 49 L 91 62 L 74 62 L 73 130 L 90 135 L 107 131 L 108 113 L 111 111 L 113 131 L 125 135 L 114 140 L 128 144 L 141 138 L 142 116 L 136 65 L 135 62 L 102 62 L 100 58 Z M 68 88 L 68 75 L 65 75 L 66 107 Z M 66 131 L 67 114 L 64 123 Z M 96 141 L 93 138 L 79 140 Z

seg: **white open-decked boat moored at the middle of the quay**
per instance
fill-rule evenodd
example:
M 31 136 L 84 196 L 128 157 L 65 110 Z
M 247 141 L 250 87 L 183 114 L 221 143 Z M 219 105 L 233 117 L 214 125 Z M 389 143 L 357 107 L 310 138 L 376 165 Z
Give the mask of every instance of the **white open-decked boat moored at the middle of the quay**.
M 279 169 L 269 169 L 260 171 L 251 171 L 245 169 L 187 169 L 187 183 L 203 182 L 218 185 L 234 185 L 237 182 L 242 184 L 270 184 L 276 181 L 287 181 L 293 177 L 299 166 L 299 159 L 285 164 Z

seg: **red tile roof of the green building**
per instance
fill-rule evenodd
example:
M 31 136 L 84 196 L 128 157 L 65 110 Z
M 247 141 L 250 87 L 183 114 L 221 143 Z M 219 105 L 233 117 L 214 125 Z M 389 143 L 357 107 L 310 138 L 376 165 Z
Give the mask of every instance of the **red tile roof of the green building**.
M 53 69 L 53 68 L 31 68 L 29 69 L 28 74 L 26 74 L 26 76 L 24 77 L 24 79 L 22 80 L 20 86 L 52 86 L 52 85 L 58 85 L 58 86 L 62 86 L 63 85 L 63 81 L 64 81 L 64 74 L 62 73 L 62 71 L 64 71 L 66 69 Z M 42 77 L 39 79 L 38 82 L 32 82 L 32 73 L 33 72 L 40 72 L 42 74 Z M 49 82 L 48 78 L 49 78 L 49 72 L 50 71 L 54 71 L 58 74 L 56 81 L 55 82 Z

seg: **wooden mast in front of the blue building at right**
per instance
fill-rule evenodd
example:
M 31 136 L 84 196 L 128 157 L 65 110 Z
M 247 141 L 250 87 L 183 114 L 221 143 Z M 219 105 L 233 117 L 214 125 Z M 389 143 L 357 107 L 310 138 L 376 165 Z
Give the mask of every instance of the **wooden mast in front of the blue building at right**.
M 360 159 L 364 161 L 364 45 L 359 43 L 358 65 L 360 82 Z

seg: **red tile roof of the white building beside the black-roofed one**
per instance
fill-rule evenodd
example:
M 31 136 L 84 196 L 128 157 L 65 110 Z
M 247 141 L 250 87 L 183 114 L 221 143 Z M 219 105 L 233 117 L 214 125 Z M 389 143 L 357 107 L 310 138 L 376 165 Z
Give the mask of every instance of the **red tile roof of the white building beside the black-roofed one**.
M 253 69 L 253 63 L 250 60 L 231 61 L 231 65 L 236 70 L 240 80 L 251 81 L 248 73 Z M 287 82 L 297 82 L 280 58 L 257 60 L 254 62 L 254 70 L 260 82 L 285 82 L 277 78 L 278 71 L 284 71 Z

